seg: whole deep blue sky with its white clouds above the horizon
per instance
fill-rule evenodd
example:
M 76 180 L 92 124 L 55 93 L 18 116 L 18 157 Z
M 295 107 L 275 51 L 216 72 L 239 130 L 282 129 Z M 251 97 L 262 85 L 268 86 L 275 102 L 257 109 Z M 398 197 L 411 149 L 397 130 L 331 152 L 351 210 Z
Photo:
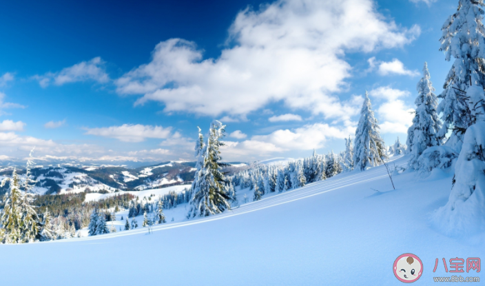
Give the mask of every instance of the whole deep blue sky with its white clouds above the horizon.
M 340 151 L 365 90 L 404 141 L 424 61 L 442 91 L 458 3 L 100 2 L 1 4 L 0 159 L 192 159 L 213 119 L 228 161 Z

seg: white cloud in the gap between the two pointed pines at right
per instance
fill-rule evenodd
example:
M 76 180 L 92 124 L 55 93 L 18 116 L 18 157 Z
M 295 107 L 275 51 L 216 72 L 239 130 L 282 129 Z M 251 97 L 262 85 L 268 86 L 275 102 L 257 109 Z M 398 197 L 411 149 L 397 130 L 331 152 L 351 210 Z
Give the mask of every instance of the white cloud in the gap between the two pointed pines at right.
M 389 86 L 376 88 L 369 92 L 369 95 L 377 99 L 384 99 L 376 112 L 381 122 L 380 131 L 384 133 L 407 134 L 409 126 L 413 123 L 413 108 L 407 106 L 402 97 L 409 96 L 406 90 L 396 90 Z

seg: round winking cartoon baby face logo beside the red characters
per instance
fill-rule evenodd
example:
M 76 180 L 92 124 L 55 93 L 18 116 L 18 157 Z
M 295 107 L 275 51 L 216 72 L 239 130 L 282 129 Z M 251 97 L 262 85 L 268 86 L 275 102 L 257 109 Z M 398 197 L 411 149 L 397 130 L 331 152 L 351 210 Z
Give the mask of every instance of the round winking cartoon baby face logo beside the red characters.
M 404 283 L 413 283 L 423 273 L 423 263 L 414 254 L 405 253 L 394 261 L 393 272 L 395 278 Z

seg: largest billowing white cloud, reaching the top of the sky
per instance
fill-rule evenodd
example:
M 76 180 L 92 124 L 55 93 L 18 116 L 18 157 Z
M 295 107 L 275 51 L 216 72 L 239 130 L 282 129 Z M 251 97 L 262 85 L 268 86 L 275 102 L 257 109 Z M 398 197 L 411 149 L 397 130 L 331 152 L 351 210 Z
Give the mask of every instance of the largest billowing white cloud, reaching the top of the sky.
M 336 12 L 338 11 L 338 12 Z M 116 81 L 119 94 L 143 94 L 165 112 L 230 118 L 283 101 L 293 109 L 349 119 L 359 107 L 340 101 L 351 65 L 344 54 L 401 47 L 420 34 L 385 20 L 371 0 L 276 1 L 240 12 L 229 29 L 232 48 L 205 59 L 196 44 L 169 39 L 152 61 Z

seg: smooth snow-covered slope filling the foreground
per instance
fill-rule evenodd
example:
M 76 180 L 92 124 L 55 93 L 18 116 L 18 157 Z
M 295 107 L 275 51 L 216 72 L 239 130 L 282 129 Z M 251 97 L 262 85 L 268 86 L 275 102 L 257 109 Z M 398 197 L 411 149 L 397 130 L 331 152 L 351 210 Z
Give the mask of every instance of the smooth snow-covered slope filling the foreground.
M 406 158 L 393 163 L 404 164 Z M 424 265 L 422 277 L 413 285 L 433 285 L 433 276 L 451 276 L 442 264 L 433 273 L 436 258 L 485 257 L 484 234 L 451 238 L 429 225 L 431 212 L 448 201 L 452 177 L 452 172 L 441 170 L 424 179 L 404 172 L 393 177 L 396 190 L 392 190 L 386 169 L 380 166 L 263 196 L 208 218 L 187 221 L 185 205 L 179 205 L 164 211 L 167 223 L 153 227 L 152 234 L 138 227 L 103 236 L 0 245 L 1 281 L 2 285 L 402 285 L 394 277 L 393 262 L 409 252 Z M 174 222 L 172 211 L 181 216 Z M 482 278 L 481 273 L 470 274 Z

